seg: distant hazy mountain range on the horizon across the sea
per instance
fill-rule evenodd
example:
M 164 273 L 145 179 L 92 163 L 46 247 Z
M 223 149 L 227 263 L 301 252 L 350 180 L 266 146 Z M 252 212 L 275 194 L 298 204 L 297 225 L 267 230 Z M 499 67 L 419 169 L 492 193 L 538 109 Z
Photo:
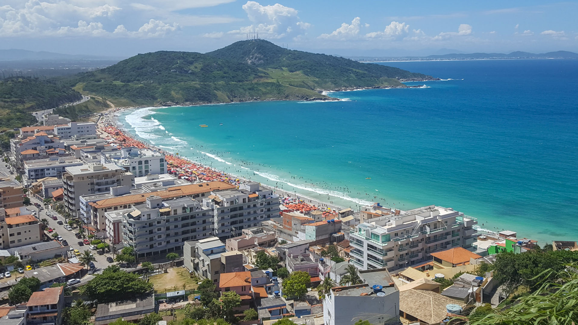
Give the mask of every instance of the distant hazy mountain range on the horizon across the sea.
M 423 60 L 503 60 L 503 59 L 527 59 L 527 58 L 578 58 L 578 54 L 570 51 L 555 51 L 548 53 L 529 53 L 515 51 L 505 53 L 450 53 L 438 54 L 427 57 L 349 57 L 351 60 L 364 62 L 378 61 L 423 61 Z

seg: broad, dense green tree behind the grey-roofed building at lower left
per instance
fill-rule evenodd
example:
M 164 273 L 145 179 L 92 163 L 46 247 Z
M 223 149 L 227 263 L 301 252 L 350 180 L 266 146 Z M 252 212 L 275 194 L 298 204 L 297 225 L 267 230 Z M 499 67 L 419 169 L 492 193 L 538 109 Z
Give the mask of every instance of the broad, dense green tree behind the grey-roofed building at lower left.
M 119 297 L 131 299 L 148 293 L 153 284 L 140 279 L 138 274 L 121 271 L 111 265 L 81 288 L 84 294 L 98 302 L 117 301 Z

